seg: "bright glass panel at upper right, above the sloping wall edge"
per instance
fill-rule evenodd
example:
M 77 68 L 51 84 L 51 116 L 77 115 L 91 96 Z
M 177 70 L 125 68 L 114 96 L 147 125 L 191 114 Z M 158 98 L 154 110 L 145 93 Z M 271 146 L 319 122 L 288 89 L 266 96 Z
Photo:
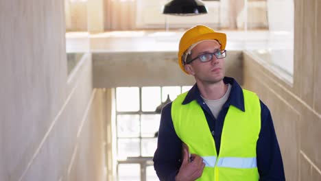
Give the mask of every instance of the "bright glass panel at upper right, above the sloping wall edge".
M 254 32 L 248 26 L 248 30 L 252 31 L 249 31 L 248 35 L 251 37 L 261 36 L 264 41 L 258 44 L 248 38 L 246 49 L 255 60 L 262 60 L 270 71 L 292 85 L 294 74 L 294 1 L 248 0 L 247 4 L 248 7 L 251 4 L 256 7 L 259 3 L 266 4 L 265 12 L 269 29 L 265 32 Z M 250 21 L 249 13 L 248 21 Z

